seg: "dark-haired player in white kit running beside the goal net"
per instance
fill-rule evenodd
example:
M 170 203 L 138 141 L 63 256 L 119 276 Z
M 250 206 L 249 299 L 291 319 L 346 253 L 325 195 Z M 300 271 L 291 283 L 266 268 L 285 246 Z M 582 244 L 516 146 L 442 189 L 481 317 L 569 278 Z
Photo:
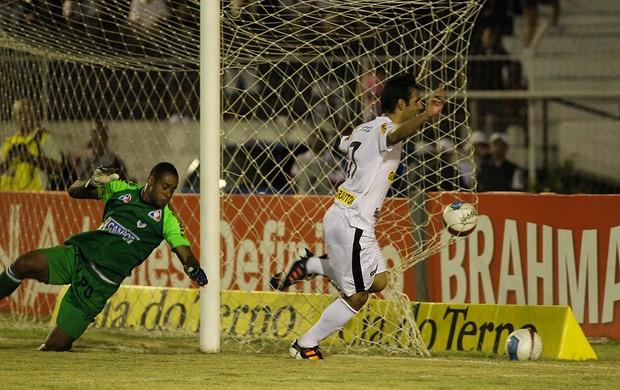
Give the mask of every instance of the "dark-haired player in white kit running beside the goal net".
M 441 86 L 425 106 L 415 78 L 395 76 L 381 93 L 383 115 L 358 126 L 340 141 L 348 166 L 346 180 L 323 219 L 327 256 L 316 257 L 306 251 L 285 277 L 277 274 L 271 281 L 273 288 L 283 290 L 320 274 L 335 281 L 342 292 L 310 330 L 291 344 L 292 357 L 322 359 L 319 343 L 342 328 L 371 293 L 385 288 L 387 266 L 375 237 L 375 222 L 396 178 L 403 141 L 441 112 L 446 97 Z

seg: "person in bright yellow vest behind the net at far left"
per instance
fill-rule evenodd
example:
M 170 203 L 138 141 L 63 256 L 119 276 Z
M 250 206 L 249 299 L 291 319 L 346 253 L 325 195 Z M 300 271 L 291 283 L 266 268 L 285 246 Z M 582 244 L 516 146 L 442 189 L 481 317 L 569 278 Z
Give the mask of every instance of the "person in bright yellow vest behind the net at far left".
M 62 173 L 63 155 L 54 137 L 39 126 L 32 104 L 13 103 L 18 132 L 2 146 L 0 190 L 46 190 L 50 179 Z

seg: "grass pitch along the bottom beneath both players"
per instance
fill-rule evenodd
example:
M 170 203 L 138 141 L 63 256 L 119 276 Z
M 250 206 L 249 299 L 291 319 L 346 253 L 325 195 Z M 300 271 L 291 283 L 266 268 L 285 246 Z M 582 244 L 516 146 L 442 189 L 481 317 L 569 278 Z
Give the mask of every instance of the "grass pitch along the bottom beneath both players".
M 3 389 L 560 389 L 617 388 L 620 343 L 595 343 L 598 360 L 509 361 L 476 352 L 430 358 L 326 354 L 288 357 L 287 343 L 261 353 L 223 342 L 199 351 L 198 336 L 89 330 L 72 352 L 37 352 L 46 326 L 0 322 Z

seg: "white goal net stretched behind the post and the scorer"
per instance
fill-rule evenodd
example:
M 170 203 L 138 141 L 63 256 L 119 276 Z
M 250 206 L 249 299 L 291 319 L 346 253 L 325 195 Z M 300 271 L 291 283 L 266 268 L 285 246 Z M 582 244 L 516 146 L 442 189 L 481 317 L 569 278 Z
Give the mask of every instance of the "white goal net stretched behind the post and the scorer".
M 337 296 L 326 280 L 276 293 L 269 279 L 302 248 L 325 252 L 322 217 L 345 169 L 334 144 L 381 113 L 386 77 L 408 72 L 423 94 L 443 83 L 449 100 L 443 114 L 407 143 L 379 219 L 390 288 L 323 347 L 428 353 L 411 304 L 424 299 L 424 260 L 451 242 L 438 222 L 442 205 L 463 197 L 476 203 L 465 75 L 481 3 L 221 3 L 221 85 L 209 87 L 221 91 L 224 339 L 254 349 L 289 342 Z M 173 205 L 196 253 L 199 9 L 195 0 L 0 5 L 0 138 L 18 131 L 13 105 L 27 99 L 78 176 L 85 175 L 80 161 L 95 142 L 91 130 L 97 122 L 107 127 L 108 148 L 122 159 L 128 178 L 143 182 L 155 163 L 172 162 L 182 177 Z M 95 228 L 101 217 L 98 202 L 13 190 L 0 192 L 6 227 L 0 235 L 1 269 L 20 253 Z M 196 331 L 188 325 L 197 321 L 191 304 L 175 311 L 180 306 L 174 306 L 173 291 L 195 286 L 173 257 L 163 244 L 125 281 L 168 292 L 145 287 L 152 298 L 133 303 L 142 309 L 125 313 L 121 304 L 111 304 L 109 321 L 96 325 Z M 28 281 L 0 310 L 12 318 L 47 320 L 58 291 Z M 161 318 L 147 318 L 152 305 L 159 305 Z M 132 315 L 142 319 L 125 318 Z

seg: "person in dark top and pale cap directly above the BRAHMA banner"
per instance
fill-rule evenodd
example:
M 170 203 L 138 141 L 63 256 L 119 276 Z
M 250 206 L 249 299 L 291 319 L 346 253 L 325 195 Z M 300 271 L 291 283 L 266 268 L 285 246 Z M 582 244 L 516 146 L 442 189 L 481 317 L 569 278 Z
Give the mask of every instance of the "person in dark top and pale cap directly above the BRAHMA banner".
M 523 170 L 506 158 L 510 141 L 506 133 L 493 133 L 490 156 L 483 160 L 476 175 L 478 192 L 523 191 Z

